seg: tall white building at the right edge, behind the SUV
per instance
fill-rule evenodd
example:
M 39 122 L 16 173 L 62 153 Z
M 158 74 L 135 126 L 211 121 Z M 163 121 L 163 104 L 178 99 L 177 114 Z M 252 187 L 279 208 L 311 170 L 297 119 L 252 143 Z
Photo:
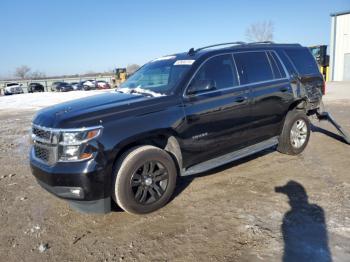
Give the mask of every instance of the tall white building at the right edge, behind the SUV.
M 330 80 L 350 81 L 350 10 L 331 14 Z

